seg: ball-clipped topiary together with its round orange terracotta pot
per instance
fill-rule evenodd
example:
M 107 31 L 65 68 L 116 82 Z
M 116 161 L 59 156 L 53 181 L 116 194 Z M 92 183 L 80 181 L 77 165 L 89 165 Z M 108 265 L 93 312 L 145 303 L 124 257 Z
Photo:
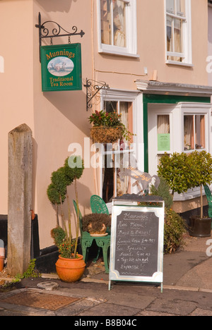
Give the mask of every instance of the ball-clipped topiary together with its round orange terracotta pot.
M 78 190 L 76 181 L 83 174 L 83 160 L 81 157 L 72 156 L 65 160 L 64 166 L 52 173 L 52 183 L 47 188 L 47 196 L 50 202 L 56 205 L 57 227 L 52 229 L 51 234 L 54 243 L 59 249 L 59 259 L 56 263 L 57 274 L 62 281 L 68 283 L 76 282 L 81 279 L 86 264 L 82 255 L 78 255 L 78 236 L 79 236 L 79 209 L 78 209 Z M 76 238 L 72 236 L 71 230 L 71 212 L 69 195 L 67 187 L 74 183 L 76 204 L 77 204 L 77 221 L 76 221 Z M 68 223 L 64 219 L 64 202 L 68 207 Z M 59 226 L 59 209 L 61 213 L 62 226 Z

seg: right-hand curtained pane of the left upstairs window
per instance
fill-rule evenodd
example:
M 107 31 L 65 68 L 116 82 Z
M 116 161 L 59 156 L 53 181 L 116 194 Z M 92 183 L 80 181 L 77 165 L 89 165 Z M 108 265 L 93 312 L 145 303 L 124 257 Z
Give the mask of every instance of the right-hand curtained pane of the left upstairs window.
M 122 0 L 113 1 L 114 46 L 126 47 L 126 4 Z

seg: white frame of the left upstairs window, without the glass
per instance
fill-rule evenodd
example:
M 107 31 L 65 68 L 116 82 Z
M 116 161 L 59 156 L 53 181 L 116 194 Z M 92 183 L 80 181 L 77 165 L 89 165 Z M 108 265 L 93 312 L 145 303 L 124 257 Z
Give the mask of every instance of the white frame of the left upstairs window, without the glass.
M 139 57 L 139 55 L 137 54 L 136 0 L 122 0 L 122 1 L 126 2 L 126 47 L 117 47 L 110 44 L 102 44 L 101 8 L 100 8 L 100 0 L 97 0 L 98 51 L 99 53 L 105 53 L 105 54 Z

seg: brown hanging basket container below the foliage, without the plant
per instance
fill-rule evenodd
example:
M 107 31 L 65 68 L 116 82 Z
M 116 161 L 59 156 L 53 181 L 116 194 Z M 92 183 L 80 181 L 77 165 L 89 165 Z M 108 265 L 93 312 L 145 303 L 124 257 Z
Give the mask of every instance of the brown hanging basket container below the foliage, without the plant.
M 122 138 L 122 133 L 122 126 L 98 126 L 90 129 L 90 138 L 92 138 L 93 142 L 114 143 Z

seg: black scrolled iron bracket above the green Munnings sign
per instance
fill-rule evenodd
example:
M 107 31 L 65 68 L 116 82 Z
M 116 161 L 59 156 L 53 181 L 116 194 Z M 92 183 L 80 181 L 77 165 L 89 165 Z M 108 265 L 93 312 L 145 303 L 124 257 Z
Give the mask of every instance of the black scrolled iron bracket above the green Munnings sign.
M 49 28 L 47 28 L 48 23 L 50 23 L 50 24 L 53 23 L 55 25 L 55 27 L 52 27 L 52 30 L 50 30 Z M 41 23 L 40 13 L 38 13 L 38 24 L 35 24 L 35 27 L 37 27 L 39 29 L 39 46 L 40 47 L 42 45 L 42 39 L 49 38 L 51 44 L 53 44 L 52 39 L 55 37 L 69 37 L 69 44 L 71 44 L 71 37 L 73 35 L 80 35 L 81 38 L 83 37 L 83 35 L 85 35 L 85 32 L 83 32 L 83 30 L 81 30 L 81 32 L 77 32 L 78 29 L 76 26 L 72 27 L 73 32 L 69 32 L 69 31 L 66 31 L 63 27 L 61 27 L 61 25 L 54 22 L 53 20 L 47 20 L 45 23 Z

